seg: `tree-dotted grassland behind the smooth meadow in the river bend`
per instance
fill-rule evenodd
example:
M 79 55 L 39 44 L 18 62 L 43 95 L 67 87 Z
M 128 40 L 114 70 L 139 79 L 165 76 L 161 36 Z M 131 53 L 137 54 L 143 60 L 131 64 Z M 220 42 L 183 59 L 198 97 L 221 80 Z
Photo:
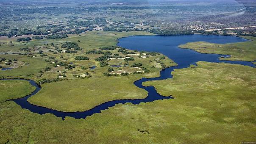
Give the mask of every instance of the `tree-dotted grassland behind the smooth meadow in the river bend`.
M 138 78 L 155 77 L 159 75 L 159 70 L 163 67 L 158 64 L 160 54 L 147 53 L 147 57 L 141 58 L 140 53 L 131 50 L 125 50 L 117 46 L 117 39 L 122 36 L 150 34 L 145 32 L 88 32 L 83 36 L 74 36 L 66 39 L 58 40 L 32 40 L 29 43 L 11 42 L 10 38 L 6 44 L 0 47 L 0 50 L 8 50 L 9 55 L 2 55 L 5 58 L 0 61 L 0 66 L 3 68 L 13 68 L 8 71 L 0 71 L 1 78 L 28 78 L 36 80 L 38 83 L 53 83 L 57 81 L 75 80 L 78 78 L 103 78 L 103 73 L 108 72 L 111 65 L 121 65 L 122 68 L 114 68 L 112 73 L 117 73 L 116 76 L 124 73 L 136 73 L 140 71 Z M 78 42 L 80 41 L 80 42 Z M 77 43 L 78 42 L 78 43 Z M 13 44 L 11 47 L 9 44 Z M 95 45 L 98 47 L 95 47 Z M 111 46 L 112 45 L 112 46 Z M 105 46 L 105 47 L 104 47 Z M 65 52 L 66 50 L 66 52 Z M 67 53 L 67 50 L 75 51 L 76 53 Z M 119 51 L 122 52 L 119 52 Z M 94 53 L 92 51 L 100 51 Z M 87 53 L 89 52 L 89 53 Z M 123 55 L 122 53 L 132 53 L 134 55 Z M 13 55 L 13 54 L 19 55 Z M 103 62 L 95 61 L 100 57 L 108 57 Z M 75 61 L 74 58 L 89 58 L 87 61 Z M 141 70 L 131 68 L 130 61 L 124 61 L 125 57 L 133 57 L 136 63 L 142 63 Z M 86 58 L 86 59 L 87 59 Z M 17 61 L 14 61 L 17 59 Z M 150 63 L 152 62 L 152 63 Z M 163 61 L 167 66 L 174 66 L 175 63 L 170 59 Z M 88 69 L 96 66 L 96 69 Z M 102 67 L 101 67 L 102 66 Z M 146 68 L 146 69 L 144 69 Z M 120 71 L 119 71 L 120 70 Z M 145 73 L 143 73 L 144 71 Z M 87 75 L 89 73 L 89 75 Z M 110 72 L 108 72 L 110 73 Z

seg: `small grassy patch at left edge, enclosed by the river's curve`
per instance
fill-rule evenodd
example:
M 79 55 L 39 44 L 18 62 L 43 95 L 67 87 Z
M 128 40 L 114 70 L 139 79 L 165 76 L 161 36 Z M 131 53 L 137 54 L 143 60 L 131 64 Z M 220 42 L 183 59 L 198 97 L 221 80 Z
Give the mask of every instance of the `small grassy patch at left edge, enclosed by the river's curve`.
M 0 102 L 24 97 L 35 89 L 28 81 L 0 80 Z

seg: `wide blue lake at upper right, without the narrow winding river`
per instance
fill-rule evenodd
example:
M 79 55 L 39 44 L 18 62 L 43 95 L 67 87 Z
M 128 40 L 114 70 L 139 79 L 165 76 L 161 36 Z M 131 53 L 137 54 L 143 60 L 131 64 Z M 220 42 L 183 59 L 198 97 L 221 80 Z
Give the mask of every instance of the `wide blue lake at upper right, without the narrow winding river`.
M 218 44 L 245 42 L 246 39 L 237 36 L 215 36 L 215 35 L 182 35 L 182 36 L 129 36 L 119 39 L 118 46 L 125 47 L 130 50 L 145 50 L 159 52 L 175 61 L 179 66 L 187 66 L 188 64 L 195 64 L 197 61 L 209 62 L 225 62 L 220 61 L 221 55 L 201 54 L 194 50 L 181 49 L 178 46 L 186 44 L 187 42 L 211 42 Z M 234 62 L 241 64 L 241 62 Z M 245 62 L 244 65 L 247 65 Z M 251 64 L 252 66 L 253 64 Z

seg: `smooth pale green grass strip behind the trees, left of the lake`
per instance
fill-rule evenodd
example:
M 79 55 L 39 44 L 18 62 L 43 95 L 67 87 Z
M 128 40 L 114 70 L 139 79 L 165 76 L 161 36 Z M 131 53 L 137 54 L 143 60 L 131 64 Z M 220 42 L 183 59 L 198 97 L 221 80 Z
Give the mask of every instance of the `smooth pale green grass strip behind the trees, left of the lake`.
M 18 51 L 21 47 L 33 47 L 40 46 L 43 44 L 60 44 L 64 42 L 77 42 L 79 47 L 84 50 L 94 50 L 99 47 L 107 47 L 117 44 L 117 39 L 126 36 L 136 36 L 136 35 L 153 35 L 152 33 L 147 33 L 143 31 L 133 31 L 133 32 L 109 32 L 109 31 L 88 31 L 86 34 L 81 35 L 69 35 L 65 39 L 41 39 L 41 40 L 31 40 L 29 42 L 16 42 L 14 38 L 0 40 L 2 43 L 0 46 L 0 51 Z M 78 40 L 80 42 L 78 42 Z M 14 46 L 10 46 L 10 42 L 13 42 Z

